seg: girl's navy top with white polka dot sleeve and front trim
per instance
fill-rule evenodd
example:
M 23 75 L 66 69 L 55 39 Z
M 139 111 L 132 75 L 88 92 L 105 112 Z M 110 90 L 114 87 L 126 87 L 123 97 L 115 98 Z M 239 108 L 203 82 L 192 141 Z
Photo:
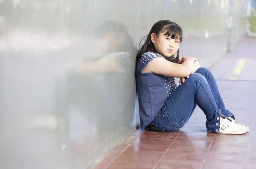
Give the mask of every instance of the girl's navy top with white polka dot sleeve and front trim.
M 173 77 L 154 73 L 142 73 L 147 64 L 157 57 L 163 56 L 154 52 L 146 52 L 137 63 L 136 86 L 139 99 L 141 129 L 145 129 L 154 119 L 163 107 L 166 99 L 177 88 Z

